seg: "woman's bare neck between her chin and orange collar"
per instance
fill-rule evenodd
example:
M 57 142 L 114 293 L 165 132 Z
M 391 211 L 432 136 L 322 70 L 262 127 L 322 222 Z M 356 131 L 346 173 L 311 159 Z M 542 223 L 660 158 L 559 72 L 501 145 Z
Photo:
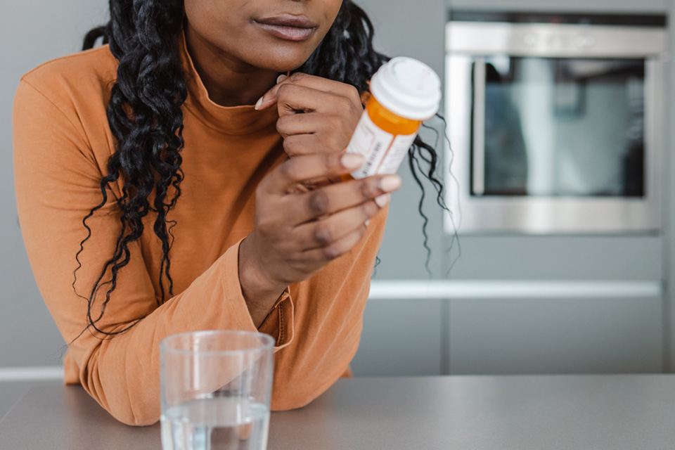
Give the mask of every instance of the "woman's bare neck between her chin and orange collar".
M 194 32 L 185 28 L 188 53 L 209 98 L 221 106 L 255 105 L 276 83 L 278 73 L 232 60 Z

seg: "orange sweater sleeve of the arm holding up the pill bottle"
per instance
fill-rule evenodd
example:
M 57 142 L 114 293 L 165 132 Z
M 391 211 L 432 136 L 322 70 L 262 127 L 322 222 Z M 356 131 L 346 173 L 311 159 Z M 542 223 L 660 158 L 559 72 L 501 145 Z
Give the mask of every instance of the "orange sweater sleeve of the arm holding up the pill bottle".
M 20 225 L 34 276 L 84 388 L 124 423 L 145 425 L 159 417 L 159 356 L 162 338 L 188 330 L 252 330 L 238 281 L 238 244 L 231 246 L 179 295 L 158 307 L 139 243 L 117 278 L 101 321 L 109 338 L 87 330 L 87 288 L 113 255 L 120 231 L 116 196 L 87 221 L 94 231 L 80 255 L 77 294 L 71 285 L 75 253 L 86 237 L 82 219 L 101 201 L 101 169 L 75 124 L 37 89 L 22 82 L 14 108 L 14 173 Z M 101 311 L 98 295 L 94 318 Z M 292 330 L 286 330 L 290 334 Z M 285 338 L 290 342 L 290 336 Z M 283 345 L 282 342 L 280 342 Z

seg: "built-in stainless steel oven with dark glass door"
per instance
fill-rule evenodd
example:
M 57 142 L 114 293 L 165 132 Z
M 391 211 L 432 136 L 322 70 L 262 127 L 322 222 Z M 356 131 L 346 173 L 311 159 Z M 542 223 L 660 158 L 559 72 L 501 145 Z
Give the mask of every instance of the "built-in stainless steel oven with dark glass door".
M 666 41 L 663 16 L 452 13 L 459 231 L 658 231 Z

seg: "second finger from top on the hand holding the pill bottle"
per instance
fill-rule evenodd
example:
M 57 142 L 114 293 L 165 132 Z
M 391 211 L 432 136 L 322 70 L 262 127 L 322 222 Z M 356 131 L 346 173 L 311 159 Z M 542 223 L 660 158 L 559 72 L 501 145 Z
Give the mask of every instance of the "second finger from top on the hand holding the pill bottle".
M 389 201 L 388 195 L 400 187 L 401 179 L 398 175 L 369 176 L 324 186 L 299 196 L 299 201 L 293 205 L 294 222 L 303 224 L 371 200 L 383 207 Z M 368 217 L 361 222 L 366 219 Z

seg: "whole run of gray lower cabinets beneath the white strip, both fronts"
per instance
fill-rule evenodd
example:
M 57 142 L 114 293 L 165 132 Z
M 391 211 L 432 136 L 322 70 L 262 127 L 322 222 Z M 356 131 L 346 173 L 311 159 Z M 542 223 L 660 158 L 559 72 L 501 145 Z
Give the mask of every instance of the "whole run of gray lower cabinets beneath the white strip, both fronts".
M 356 376 L 658 373 L 660 297 L 368 300 Z

